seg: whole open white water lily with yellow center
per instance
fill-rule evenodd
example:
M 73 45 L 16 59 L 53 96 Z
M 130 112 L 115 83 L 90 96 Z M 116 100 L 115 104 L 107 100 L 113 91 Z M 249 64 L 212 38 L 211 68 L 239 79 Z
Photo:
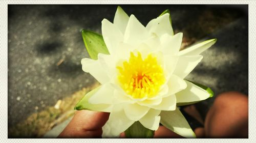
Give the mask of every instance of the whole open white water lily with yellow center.
M 151 130 L 162 123 L 182 136 L 195 136 L 177 105 L 210 96 L 184 78 L 216 39 L 179 51 L 182 33 L 174 35 L 168 13 L 144 27 L 120 7 L 113 23 L 102 20 L 102 36 L 110 54 L 99 53 L 98 60 L 84 58 L 81 64 L 102 84 L 88 101 L 94 105 L 91 110 L 110 112 L 103 135 L 118 136 L 139 121 Z

